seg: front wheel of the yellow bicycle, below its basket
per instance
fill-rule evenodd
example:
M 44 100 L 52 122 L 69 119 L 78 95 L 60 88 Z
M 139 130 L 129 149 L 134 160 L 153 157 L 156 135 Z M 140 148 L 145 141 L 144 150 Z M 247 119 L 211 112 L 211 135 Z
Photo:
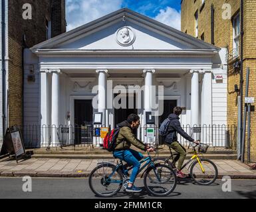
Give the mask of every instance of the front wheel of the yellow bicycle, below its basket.
M 200 161 L 204 172 L 202 171 L 199 162 L 196 160 L 190 168 L 192 180 L 199 185 L 213 184 L 218 176 L 217 166 L 209 159 L 200 158 Z

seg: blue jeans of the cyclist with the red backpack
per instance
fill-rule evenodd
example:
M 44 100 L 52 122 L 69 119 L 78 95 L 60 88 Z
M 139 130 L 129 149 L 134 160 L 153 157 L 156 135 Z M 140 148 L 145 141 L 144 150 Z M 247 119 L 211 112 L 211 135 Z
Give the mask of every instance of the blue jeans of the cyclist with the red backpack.
M 140 170 L 140 160 L 144 157 L 143 154 L 132 149 L 114 151 L 114 157 L 124 160 L 130 166 L 133 166 L 132 174 L 130 176 L 130 183 L 133 184 L 135 178 Z

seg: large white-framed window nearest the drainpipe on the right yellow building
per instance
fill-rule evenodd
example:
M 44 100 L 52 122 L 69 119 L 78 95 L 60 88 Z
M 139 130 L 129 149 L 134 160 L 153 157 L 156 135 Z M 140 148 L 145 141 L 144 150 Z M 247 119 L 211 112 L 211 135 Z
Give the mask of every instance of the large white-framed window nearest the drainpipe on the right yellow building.
M 239 40 L 240 40 L 240 15 L 237 14 L 233 18 L 233 51 L 234 56 L 239 56 Z

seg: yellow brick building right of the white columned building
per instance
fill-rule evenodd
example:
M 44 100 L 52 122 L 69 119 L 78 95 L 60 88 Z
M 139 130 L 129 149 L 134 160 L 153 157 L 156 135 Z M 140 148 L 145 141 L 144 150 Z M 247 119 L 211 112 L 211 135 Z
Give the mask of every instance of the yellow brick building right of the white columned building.
M 238 0 L 183 0 L 182 4 L 182 32 L 186 32 L 205 42 L 209 42 L 227 50 L 227 124 L 238 125 L 239 145 L 239 91 L 235 85 L 240 85 L 239 61 L 241 60 L 241 10 Z M 250 68 L 249 97 L 256 95 L 256 1 L 243 2 L 243 97 L 245 96 L 246 69 Z M 244 104 L 243 104 L 244 105 Z M 242 105 L 242 107 L 243 107 Z M 253 109 L 253 108 L 252 108 Z M 214 111 L 213 111 L 214 113 Z M 217 113 L 217 111 L 215 112 Z M 247 129 L 247 127 L 246 127 Z M 256 117 L 251 114 L 251 161 L 256 160 Z M 245 137 L 245 160 L 247 158 L 247 132 Z

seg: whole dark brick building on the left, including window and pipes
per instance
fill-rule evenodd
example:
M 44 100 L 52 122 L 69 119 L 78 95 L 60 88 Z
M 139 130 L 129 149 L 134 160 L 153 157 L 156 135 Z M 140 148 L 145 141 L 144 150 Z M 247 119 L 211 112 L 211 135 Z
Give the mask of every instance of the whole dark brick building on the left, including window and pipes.
M 1 69 L 5 68 L 5 80 L 2 82 L 2 74 L 0 79 L 0 115 L 5 116 L 5 120 L 0 121 L 2 140 L 4 129 L 24 124 L 23 111 L 27 103 L 23 99 L 23 81 L 27 80 L 27 76 L 23 74 L 23 50 L 65 32 L 66 21 L 64 0 L 1 0 L 1 9 L 1 32 L 5 27 L 5 33 L 0 35 L 1 59 L 2 55 L 5 56 L 1 60 Z M 35 70 L 31 68 L 31 74 Z M 4 96 L 2 85 L 6 91 Z M 2 101 L 3 97 L 5 101 Z

